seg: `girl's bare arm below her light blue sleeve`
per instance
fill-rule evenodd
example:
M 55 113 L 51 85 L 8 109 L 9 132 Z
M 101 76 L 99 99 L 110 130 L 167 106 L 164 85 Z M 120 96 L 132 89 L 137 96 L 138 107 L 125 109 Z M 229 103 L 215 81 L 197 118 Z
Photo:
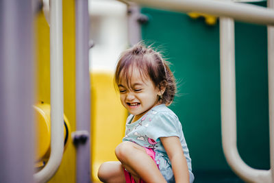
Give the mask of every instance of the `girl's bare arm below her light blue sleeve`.
M 188 164 L 179 138 L 177 136 L 169 136 L 161 137 L 160 140 L 169 156 L 169 160 L 171 160 L 175 182 L 189 182 Z

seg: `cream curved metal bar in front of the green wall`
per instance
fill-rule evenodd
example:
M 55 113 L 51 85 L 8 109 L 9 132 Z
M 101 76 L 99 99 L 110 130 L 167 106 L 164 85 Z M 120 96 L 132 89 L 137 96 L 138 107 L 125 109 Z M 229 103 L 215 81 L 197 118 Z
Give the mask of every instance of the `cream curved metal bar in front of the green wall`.
M 271 171 L 249 167 L 242 161 L 236 136 L 236 79 L 235 79 L 234 21 L 220 18 L 221 60 L 221 121 L 225 158 L 233 171 L 247 182 L 271 182 Z

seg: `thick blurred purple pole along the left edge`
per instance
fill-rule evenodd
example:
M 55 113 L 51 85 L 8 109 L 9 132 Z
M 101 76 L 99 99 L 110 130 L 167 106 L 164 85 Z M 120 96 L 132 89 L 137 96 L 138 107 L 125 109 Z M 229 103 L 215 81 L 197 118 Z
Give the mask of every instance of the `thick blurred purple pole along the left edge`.
M 32 0 L 0 1 L 0 182 L 33 182 Z

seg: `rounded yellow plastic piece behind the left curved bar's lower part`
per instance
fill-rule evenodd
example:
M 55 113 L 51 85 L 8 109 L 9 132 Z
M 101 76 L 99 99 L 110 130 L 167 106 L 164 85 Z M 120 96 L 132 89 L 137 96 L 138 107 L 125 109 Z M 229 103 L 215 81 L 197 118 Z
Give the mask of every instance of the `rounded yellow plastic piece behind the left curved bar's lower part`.
M 49 160 L 50 146 L 51 146 L 51 106 L 49 103 L 38 103 L 34 106 L 34 114 L 36 117 L 36 162 Z M 64 139 L 66 135 L 71 136 L 71 127 L 69 120 L 64 115 Z M 71 138 L 67 138 L 64 150 L 71 141 Z

